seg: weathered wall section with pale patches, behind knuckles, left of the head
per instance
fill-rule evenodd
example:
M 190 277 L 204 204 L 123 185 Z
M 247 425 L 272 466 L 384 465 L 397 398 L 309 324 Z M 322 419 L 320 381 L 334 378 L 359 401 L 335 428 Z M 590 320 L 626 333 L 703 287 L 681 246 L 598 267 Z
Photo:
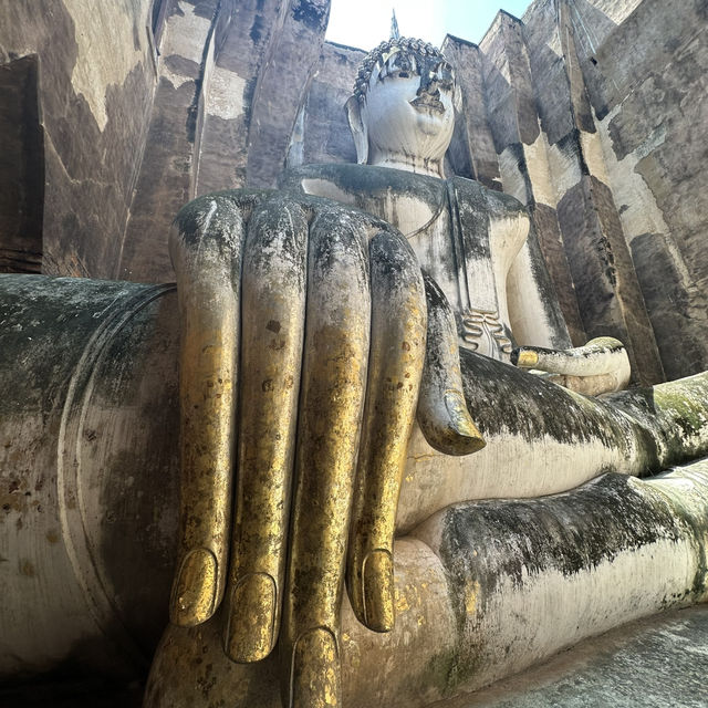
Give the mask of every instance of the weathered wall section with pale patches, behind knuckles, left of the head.
M 167 232 L 190 198 L 273 186 L 320 58 L 329 9 L 327 0 L 169 2 L 121 278 L 174 278 Z

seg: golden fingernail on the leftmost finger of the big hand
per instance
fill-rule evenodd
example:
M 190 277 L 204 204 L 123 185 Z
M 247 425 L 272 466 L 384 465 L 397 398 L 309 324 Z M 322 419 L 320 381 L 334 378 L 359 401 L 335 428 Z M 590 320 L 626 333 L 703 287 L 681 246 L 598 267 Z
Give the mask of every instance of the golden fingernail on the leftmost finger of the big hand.
M 206 622 L 214 614 L 217 592 L 217 559 L 208 549 L 185 555 L 173 586 L 169 620 L 181 627 Z

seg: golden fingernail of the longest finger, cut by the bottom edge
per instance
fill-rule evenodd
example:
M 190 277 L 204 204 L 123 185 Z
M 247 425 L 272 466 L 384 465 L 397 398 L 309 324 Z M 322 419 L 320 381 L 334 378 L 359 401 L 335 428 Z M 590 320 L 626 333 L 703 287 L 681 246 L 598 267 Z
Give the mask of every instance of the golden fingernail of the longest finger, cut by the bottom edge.
M 340 653 L 334 634 L 316 627 L 301 634 L 292 650 L 290 708 L 342 705 Z

